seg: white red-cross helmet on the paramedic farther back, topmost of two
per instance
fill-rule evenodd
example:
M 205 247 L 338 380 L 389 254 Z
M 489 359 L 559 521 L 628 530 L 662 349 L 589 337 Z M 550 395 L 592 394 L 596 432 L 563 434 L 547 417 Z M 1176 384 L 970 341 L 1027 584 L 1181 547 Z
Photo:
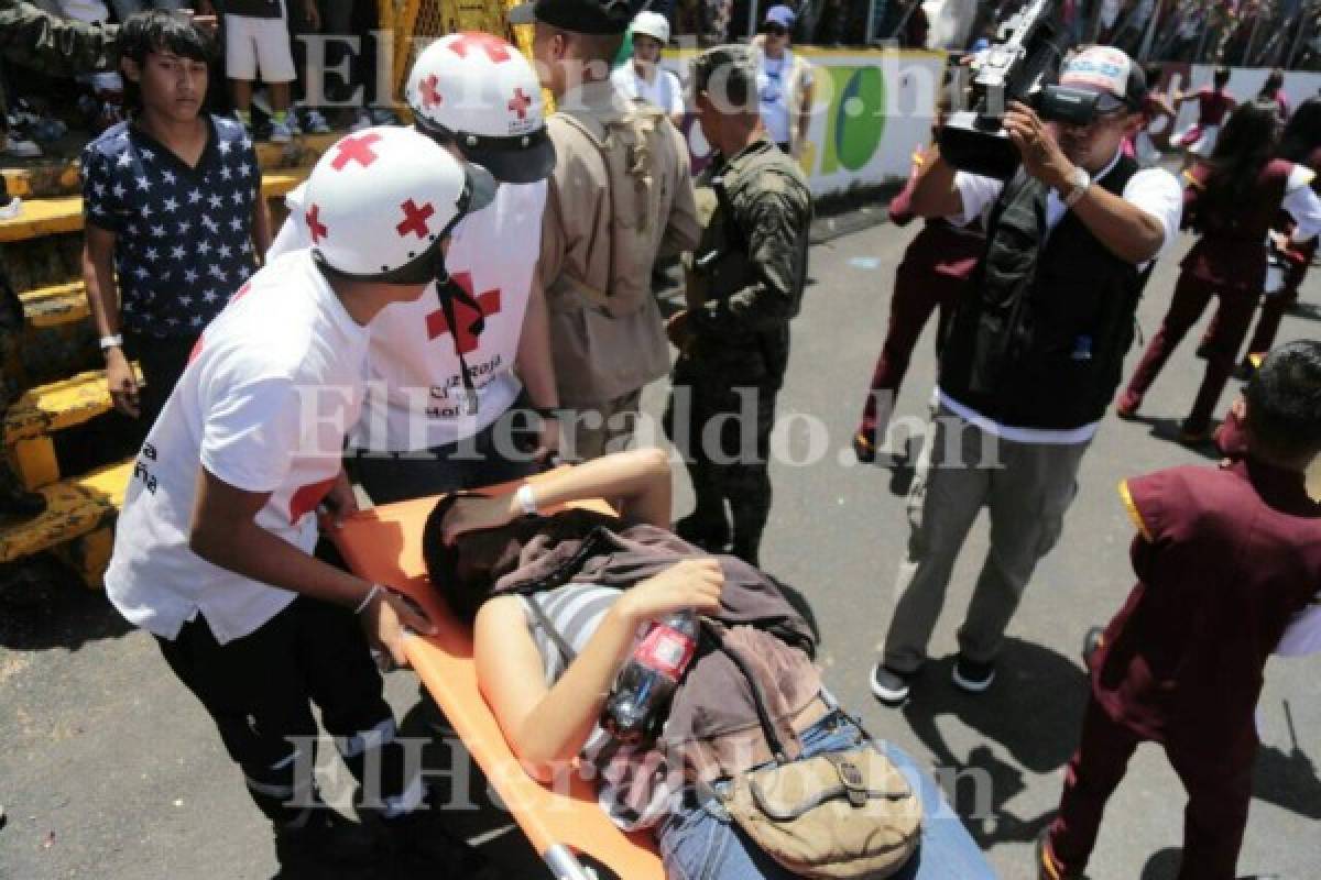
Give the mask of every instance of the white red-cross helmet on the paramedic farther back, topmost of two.
M 441 37 L 413 62 L 404 96 L 417 128 L 453 142 L 499 181 L 531 183 L 555 168 L 536 71 L 499 37 Z

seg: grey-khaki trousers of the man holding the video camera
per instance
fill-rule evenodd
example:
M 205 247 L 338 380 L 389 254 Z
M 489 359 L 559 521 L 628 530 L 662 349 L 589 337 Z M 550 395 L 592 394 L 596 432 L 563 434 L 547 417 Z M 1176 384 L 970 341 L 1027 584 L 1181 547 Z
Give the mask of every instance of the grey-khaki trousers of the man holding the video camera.
M 1059 538 L 1087 446 L 1018 443 L 937 409 L 908 497 L 911 530 L 894 583 L 886 666 L 910 673 L 926 660 L 954 561 L 983 507 L 991 515 L 991 549 L 959 629 L 959 649 L 974 662 L 995 660 L 1037 562 Z

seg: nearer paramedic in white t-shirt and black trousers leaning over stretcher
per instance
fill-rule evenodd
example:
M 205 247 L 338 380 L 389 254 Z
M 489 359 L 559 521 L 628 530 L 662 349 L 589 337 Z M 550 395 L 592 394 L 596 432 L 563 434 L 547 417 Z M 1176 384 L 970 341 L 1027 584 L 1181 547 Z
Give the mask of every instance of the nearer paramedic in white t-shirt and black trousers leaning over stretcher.
M 373 768 L 380 801 L 365 806 L 386 843 L 436 838 L 369 650 L 404 664 L 404 628 L 431 624 L 388 584 L 312 549 L 320 505 L 355 509 L 341 455 L 362 404 L 367 325 L 444 272 L 449 231 L 493 189 L 482 169 L 404 128 L 326 150 L 308 181 L 314 248 L 268 263 L 207 326 L 128 484 L 107 596 L 211 715 L 281 860 L 370 852 L 359 829 L 314 809 L 313 761 L 299 760 L 299 743 L 317 736 L 312 703 L 359 781 Z M 452 846 L 439 855 L 464 858 Z

